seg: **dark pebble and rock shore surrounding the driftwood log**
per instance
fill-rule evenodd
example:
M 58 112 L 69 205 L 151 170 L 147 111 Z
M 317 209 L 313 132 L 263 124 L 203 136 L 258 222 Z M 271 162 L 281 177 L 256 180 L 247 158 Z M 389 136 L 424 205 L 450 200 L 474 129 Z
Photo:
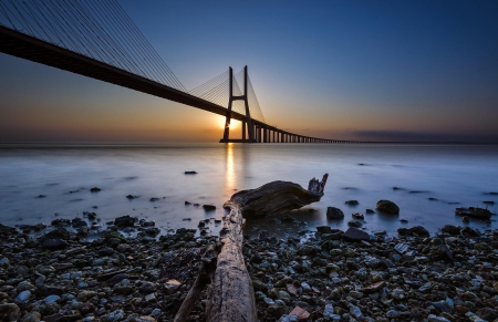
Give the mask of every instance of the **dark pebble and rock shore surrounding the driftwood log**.
M 81 222 L 0 225 L 1 321 L 173 321 L 218 241 L 196 229 L 158 236 L 127 216 L 93 235 Z M 317 230 L 245 240 L 260 321 L 498 321 L 498 230 Z M 206 291 L 189 321 L 205 320 L 205 304 Z

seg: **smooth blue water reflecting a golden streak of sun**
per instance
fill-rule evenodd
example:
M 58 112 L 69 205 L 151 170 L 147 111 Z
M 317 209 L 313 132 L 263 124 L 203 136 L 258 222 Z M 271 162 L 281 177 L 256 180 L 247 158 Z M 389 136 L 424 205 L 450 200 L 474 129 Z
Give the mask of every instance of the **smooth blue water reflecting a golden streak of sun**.
M 436 232 L 446 224 L 463 225 L 455 216 L 456 207 L 486 207 L 483 201 L 495 201 L 488 208 L 497 211 L 498 196 L 486 195 L 498 191 L 497 164 L 498 146 L 492 145 L 2 145 L 0 218 L 11 226 L 50 224 L 95 211 L 103 226 L 117 216 L 131 215 L 155 220 L 166 232 L 196 228 L 201 219 L 221 218 L 224 202 L 237 190 L 272 180 L 307 187 L 312 177 L 329 173 L 322 200 L 291 214 L 310 228 L 330 225 L 345 230 L 351 215 L 361 212 L 367 231 L 395 233 L 400 227 L 422 225 Z M 186 170 L 198 174 L 185 175 Z M 91 193 L 92 187 L 102 190 Z M 46 197 L 37 198 L 39 195 Z M 127 195 L 139 198 L 128 200 Z M 159 200 L 149 201 L 153 197 Z M 350 199 L 360 205 L 345 205 Z M 400 216 L 366 215 L 365 209 L 374 209 L 380 199 L 396 202 Z M 212 204 L 217 210 L 205 211 L 185 205 L 186 200 Z M 328 220 L 329 206 L 341 208 L 344 220 Z M 498 228 L 496 216 L 490 226 L 478 220 L 469 226 Z M 212 221 L 209 227 L 212 233 L 220 229 Z M 249 233 L 262 228 L 297 232 L 303 227 L 268 219 L 248 221 Z

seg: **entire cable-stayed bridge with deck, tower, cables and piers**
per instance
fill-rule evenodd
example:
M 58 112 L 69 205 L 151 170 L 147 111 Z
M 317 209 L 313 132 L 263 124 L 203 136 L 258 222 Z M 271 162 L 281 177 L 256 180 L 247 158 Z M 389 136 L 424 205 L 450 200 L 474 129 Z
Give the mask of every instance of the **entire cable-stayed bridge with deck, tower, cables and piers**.
M 0 52 L 226 116 L 224 143 L 340 143 L 270 125 L 247 66 L 187 91 L 116 0 L 2 0 Z

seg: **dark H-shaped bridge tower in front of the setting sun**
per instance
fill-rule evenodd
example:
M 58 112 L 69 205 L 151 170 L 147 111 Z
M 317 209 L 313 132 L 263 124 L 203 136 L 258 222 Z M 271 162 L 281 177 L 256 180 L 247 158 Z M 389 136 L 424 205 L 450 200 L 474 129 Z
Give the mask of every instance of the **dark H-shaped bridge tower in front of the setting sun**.
M 234 96 L 234 71 L 229 67 L 229 98 L 228 98 L 228 108 L 225 121 L 225 129 L 224 129 L 224 138 L 221 138 L 220 143 L 256 143 L 255 138 L 255 126 L 251 118 L 251 112 L 249 111 L 249 101 L 247 97 L 247 65 L 243 67 L 243 95 Z M 234 101 L 243 101 L 246 106 L 246 120 L 242 121 L 242 138 L 230 138 L 230 121 L 231 121 L 231 107 Z M 247 127 L 247 136 L 246 137 L 246 127 Z

